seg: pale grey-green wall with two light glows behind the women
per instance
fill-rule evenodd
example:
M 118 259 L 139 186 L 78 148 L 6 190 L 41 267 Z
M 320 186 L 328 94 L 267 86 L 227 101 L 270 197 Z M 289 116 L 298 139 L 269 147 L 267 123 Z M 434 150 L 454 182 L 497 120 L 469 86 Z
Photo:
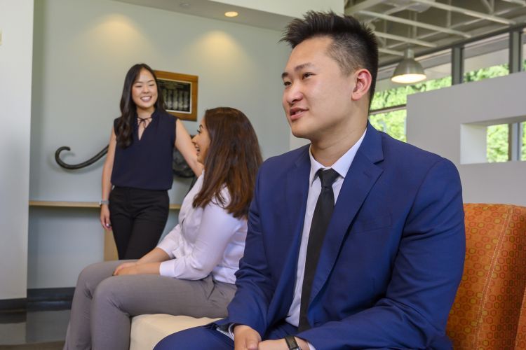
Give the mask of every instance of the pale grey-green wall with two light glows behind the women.
M 281 71 L 288 48 L 279 31 L 198 18 L 109 0 L 36 1 L 30 197 L 98 201 L 102 160 L 80 171 L 55 164 L 70 146 L 70 163 L 107 144 L 119 116 L 129 67 L 199 77 L 198 116 L 232 106 L 244 111 L 264 157 L 283 153 L 289 129 L 281 108 Z M 198 123 L 185 122 L 190 132 Z M 188 181 L 176 179 L 171 202 L 180 203 Z M 176 222 L 172 213 L 167 228 Z M 80 269 L 102 260 L 96 209 L 32 208 L 28 288 L 74 286 Z

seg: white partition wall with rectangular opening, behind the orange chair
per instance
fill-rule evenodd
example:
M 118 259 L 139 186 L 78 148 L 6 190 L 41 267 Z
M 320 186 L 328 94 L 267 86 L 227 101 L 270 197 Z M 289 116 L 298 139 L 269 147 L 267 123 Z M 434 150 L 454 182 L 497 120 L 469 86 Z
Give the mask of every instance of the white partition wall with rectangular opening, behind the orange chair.
M 407 98 L 407 142 L 457 165 L 464 202 L 526 206 L 526 162 L 461 164 L 461 129 L 526 120 L 525 87 L 522 72 L 412 94 Z M 476 132 L 471 137 L 480 141 Z

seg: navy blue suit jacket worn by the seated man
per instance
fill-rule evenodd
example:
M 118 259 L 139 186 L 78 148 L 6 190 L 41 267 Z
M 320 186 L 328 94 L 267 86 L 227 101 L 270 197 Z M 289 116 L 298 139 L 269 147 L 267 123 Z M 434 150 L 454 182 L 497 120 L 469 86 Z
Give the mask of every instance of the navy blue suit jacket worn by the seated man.
M 264 337 L 288 314 L 309 191 L 309 146 L 259 169 L 229 317 Z M 321 248 L 309 303 L 317 350 L 447 349 L 464 266 L 452 162 L 367 125 Z

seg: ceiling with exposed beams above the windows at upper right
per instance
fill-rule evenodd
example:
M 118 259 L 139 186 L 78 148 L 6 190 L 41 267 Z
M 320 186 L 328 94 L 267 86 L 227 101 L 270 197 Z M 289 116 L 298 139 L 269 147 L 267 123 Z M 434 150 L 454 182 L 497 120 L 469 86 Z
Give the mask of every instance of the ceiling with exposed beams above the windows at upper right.
M 526 24 L 526 0 L 348 0 L 345 13 L 371 25 L 380 65 Z

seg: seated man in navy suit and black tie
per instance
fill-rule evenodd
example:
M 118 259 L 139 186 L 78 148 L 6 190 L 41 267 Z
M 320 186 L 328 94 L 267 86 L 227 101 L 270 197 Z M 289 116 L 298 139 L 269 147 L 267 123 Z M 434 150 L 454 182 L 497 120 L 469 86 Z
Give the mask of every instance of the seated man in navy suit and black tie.
M 367 123 L 370 29 L 311 12 L 283 40 L 285 115 L 311 144 L 259 170 L 229 317 L 156 349 L 450 349 L 465 248 L 457 169 Z

